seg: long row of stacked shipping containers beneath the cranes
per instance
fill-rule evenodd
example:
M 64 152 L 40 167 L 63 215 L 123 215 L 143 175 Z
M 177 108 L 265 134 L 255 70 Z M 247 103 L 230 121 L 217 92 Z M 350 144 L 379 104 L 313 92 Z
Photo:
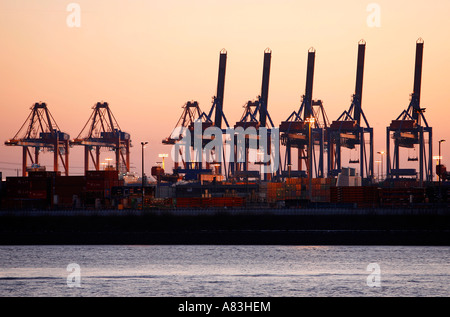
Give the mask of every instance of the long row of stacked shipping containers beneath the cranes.
M 61 176 L 60 173 L 37 171 L 29 177 L 7 177 L 2 208 L 136 208 L 142 198 L 141 187 L 124 187 L 116 171 L 88 171 L 86 176 Z M 307 205 L 310 193 L 308 178 L 287 178 L 284 182 L 260 184 L 186 184 L 177 188 L 176 199 L 153 201 L 154 187 L 146 188 L 146 206 L 164 205 L 178 208 L 221 208 Z M 336 179 L 311 180 L 313 203 L 351 204 L 358 208 L 419 206 L 433 199 L 438 189 L 416 187 L 415 179 L 386 181 L 381 186 L 336 186 Z M 436 188 L 437 185 L 435 185 Z M 427 191 L 428 190 L 428 191 Z M 436 192 L 436 193 L 435 193 Z M 160 191 L 161 193 L 161 191 Z M 441 191 L 445 193 L 446 189 Z M 264 205 L 265 204 L 265 205 Z

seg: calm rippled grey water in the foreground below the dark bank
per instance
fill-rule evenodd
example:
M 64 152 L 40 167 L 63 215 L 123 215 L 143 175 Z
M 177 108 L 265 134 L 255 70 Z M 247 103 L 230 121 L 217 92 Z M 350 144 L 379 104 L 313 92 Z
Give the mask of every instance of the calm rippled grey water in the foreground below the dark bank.
M 0 246 L 0 296 L 447 297 L 449 263 L 450 247 Z

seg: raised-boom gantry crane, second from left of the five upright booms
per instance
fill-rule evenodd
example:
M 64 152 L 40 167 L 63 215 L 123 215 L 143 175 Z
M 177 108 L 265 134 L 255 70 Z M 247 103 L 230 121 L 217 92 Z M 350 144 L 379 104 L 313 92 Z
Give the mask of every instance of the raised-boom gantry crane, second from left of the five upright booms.
M 265 148 L 266 154 L 271 153 L 271 133 L 274 128 L 274 124 L 268 112 L 268 99 L 269 99 L 269 78 L 270 78 L 270 64 L 272 59 L 272 50 L 266 48 L 264 51 L 264 62 L 263 62 L 263 74 L 262 74 L 262 84 L 261 84 L 261 94 L 256 100 L 248 101 L 244 105 L 244 113 L 241 119 L 236 122 L 234 128 L 242 128 L 244 131 L 247 128 L 254 128 L 257 135 L 258 142 L 254 143 L 254 146 L 258 146 L 259 142 L 262 140 L 259 135 L 259 128 L 266 128 L 267 130 L 267 144 L 259 144 L 259 149 Z M 236 132 L 235 132 L 236 133 Z M 252 142 L 250 142 L 249 137 L 246 136 L 243 146 L 238 144 L 238 138 L 235 135 L 234 141 L 234 160 L 230 162 L 230 176 L 236 177 L 238 175 L 244 175 L 248 170 L 249 164 L 249 151 L 258 151 L 258 148 L 252 148 Z M 240 157 L 240 158 L 239 158 Z M 256 164 L 269 165 L 269 162 L 260 162 L 258 158 L 255 158 Z M 264 180 L 270 180 L 275 171 L 264 173 Z

